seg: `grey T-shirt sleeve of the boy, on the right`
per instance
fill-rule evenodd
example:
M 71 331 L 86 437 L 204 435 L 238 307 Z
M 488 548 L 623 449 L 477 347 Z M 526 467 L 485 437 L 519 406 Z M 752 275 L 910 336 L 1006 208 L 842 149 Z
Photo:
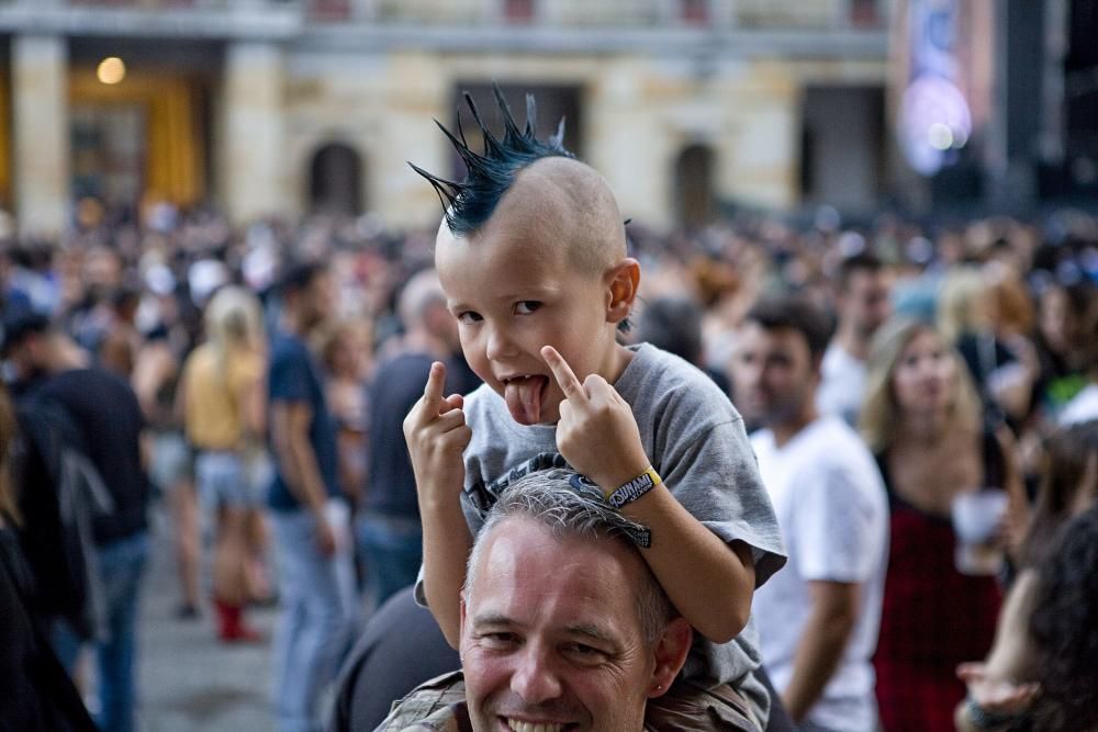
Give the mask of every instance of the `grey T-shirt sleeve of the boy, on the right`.
M 708 431 L 686 430 L 660 461 L 660 475 L 675 498 L 725 542 L 751 547 L 755 587 L 785 564 L 782 533 L 743 420 Z

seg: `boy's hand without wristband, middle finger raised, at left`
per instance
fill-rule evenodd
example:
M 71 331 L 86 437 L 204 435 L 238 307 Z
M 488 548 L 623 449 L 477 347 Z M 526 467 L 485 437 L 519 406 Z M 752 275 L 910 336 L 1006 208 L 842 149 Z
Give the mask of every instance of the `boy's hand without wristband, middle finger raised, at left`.
M 460 394 L 442 396 L 446 367 L 430 364 L 423 397 L 404 418 L 404 439 L 408 443 L 412 470 L 421 506 L 446 506 L 461 494 L 466 481 L 462 452 L 473 432 L 466 424 Z

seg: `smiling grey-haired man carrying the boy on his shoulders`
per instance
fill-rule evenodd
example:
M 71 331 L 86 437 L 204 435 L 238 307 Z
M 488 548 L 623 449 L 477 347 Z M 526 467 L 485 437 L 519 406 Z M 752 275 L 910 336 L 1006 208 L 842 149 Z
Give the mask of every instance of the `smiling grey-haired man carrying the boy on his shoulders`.
M 379 730 L 735 729 L 684 710 L 683 692 L 664 698 L 692 631 L 637 552 L 643 532 L 574 473 L 514 483 L 469 558 L 462 671 L 421 686 Z

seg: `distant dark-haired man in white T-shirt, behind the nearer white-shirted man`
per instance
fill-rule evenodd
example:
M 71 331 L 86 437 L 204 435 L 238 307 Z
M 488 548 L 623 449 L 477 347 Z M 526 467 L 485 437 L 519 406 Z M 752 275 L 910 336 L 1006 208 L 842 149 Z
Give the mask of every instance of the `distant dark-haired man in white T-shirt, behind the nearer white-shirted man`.
M 873 255 L 860 254 L 844 260 L 838 280 L 839 325 L 824 354 L 816 406 L 820 414 L 842 417 L 853 426 L 862 409 L 870 340 L 888 318 L 892 304 L 888 274 Z

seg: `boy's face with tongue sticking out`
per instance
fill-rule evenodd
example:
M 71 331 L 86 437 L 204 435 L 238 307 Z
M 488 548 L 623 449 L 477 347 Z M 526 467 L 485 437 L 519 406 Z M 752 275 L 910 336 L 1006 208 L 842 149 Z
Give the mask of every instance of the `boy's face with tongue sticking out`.
M 472 370 L 515 421 L 553 424 L 564 396 L 541 348 L 556 348 L 580 381 L 597 373 L 613 382 L 621 359 L 616 323 L 628 311 L 614 306 L 614 267 L 583 271 L 554 226 L 509 218 L 497 211 L 468 238 L 444 223 L 435 267 Z

